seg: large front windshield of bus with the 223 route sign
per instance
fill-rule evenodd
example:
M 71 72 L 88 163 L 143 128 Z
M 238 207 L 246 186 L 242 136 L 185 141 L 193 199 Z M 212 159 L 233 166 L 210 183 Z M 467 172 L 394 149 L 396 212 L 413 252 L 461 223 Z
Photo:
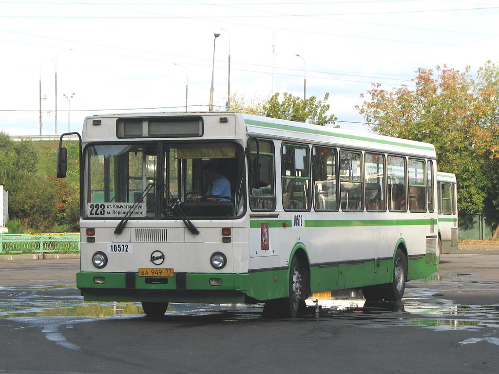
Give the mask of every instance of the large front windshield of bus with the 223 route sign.
M 86 217 L 179 219 L 177 200 L 189 218 L 244 213 L 244 157 L 234 142 L 93 144 L 84 160 Z

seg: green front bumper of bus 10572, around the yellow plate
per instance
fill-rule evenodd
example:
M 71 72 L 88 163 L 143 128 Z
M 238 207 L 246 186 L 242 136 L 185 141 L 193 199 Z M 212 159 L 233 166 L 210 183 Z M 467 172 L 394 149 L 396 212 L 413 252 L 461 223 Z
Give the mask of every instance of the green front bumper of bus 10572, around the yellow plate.
M 238 273 L 175 273 L 159 278 L 134 272 L 79 272 L 76 286 L 85 301 L 251 302 L 246 296 L 248 274 Z

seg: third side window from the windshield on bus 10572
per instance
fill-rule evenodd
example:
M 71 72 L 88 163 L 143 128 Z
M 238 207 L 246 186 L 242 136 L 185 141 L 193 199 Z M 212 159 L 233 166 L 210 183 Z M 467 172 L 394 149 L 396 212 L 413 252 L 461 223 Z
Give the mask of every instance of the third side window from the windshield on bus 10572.
M 313 204 L 315 210 L 338 210 L 338 184 L 336 181 L 336 150 L 312 148 Z

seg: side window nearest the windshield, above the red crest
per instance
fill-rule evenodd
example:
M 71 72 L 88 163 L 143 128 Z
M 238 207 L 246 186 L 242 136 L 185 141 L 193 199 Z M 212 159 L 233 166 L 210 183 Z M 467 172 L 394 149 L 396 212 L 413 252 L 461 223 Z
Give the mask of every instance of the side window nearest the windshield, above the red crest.
M 268 140 L 250 141 L 248 162 L 250 209 L 275 210 L 275 153 L 274 144 Z M 258 164 L 258 165 L 256 165 Z

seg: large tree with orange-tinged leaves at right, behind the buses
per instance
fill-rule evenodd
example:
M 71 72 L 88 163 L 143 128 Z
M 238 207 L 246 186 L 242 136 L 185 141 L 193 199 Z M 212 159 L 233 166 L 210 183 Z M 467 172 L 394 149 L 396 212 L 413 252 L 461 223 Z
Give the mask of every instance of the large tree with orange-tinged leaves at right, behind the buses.
M 483 131 L 493 126 L 491 116 L 499 108 L 497 96 L 492 99 L 486 94 L 497 92 L 498 68 L 488 63 L 477 81 L 469 68 L 460 72 L 444 65 L 436 71 L 437 76 L 431 69 L 418 69 L 415 88 L 403 86 L 389 92 L 373 85 L 367 91 L 370 100 L 357 110 L 378 134 L 434 144 L 439 170 L 458 179 L 460 212 L 482 211 L 487 201 L 499 207 L 499 200 L 491 198 L 496 193 L 491 175 L 498 174 L 498 167 L 486 155 L 490 145 L 486 151 L 483 144 Z

